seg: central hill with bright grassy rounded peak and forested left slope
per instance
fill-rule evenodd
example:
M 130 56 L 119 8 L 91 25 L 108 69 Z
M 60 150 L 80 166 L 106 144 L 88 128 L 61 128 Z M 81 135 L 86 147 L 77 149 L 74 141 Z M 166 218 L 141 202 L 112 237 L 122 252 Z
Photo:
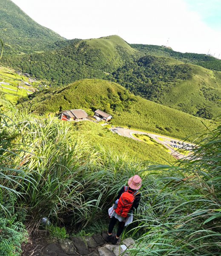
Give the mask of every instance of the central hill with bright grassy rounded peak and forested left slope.
M 126 61 L 132 61 L 135 54 L 135 50 L 118 36 L 59 41 L 50 47 L 56 49 L 6 56 L 3 63 L 39 79 L 47 79 L 53 85 L 66 85 L 84 78 L 102 79 Z

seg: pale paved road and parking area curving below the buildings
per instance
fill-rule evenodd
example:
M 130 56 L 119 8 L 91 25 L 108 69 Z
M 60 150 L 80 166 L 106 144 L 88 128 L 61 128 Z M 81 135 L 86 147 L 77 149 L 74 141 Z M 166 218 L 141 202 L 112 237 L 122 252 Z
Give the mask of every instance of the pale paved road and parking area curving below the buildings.
M 151 133 L 146 133 L 146 132 L 143 132 L 143 131 L 136 131 L 136 130 L 125 129 L 125 128 L 114 128 L 114 129 L 116 129 L 115 132 L 117 134 L 119 134 L 121 136 L 124 136 L 124 137 L 131 138 L 133 140 L 138 140 L 138 141 L 142 141 L 142 140 L 139 140 L 138 138 L 132 136 L 132 134 L 145 134 L 145 135 L 148 135 L 149 137 L 154 139 L 156 142 L 161 143 L 166 148 L 168 148 L 173 157 L 175 157 L 177 159 L 181 159 L 181 158 L 187 157 L 187 156 L 184 156 L 183 154 L 179 153 L 178 151 L 174 150 L 169 145 L 169 144 L 171 144 L 171 140 L 172 141 L 176 141 L 177 143 L 180 142 L 180 140 L 174 140 L 172 138 L 161 136 L 161 135 L 157 135 L 157 134 L 151 134 Z M 159 138 L 164 139 L 164 141 L 159 140 Z

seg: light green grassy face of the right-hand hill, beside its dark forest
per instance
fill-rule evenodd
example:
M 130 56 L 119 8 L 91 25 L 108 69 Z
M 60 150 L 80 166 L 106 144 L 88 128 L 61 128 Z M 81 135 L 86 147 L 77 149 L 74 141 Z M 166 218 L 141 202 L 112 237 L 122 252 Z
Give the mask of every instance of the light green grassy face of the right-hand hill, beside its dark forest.
M 192 78 L 169 88 L 166 95 L 160 96 L 162 104 L 194 115 L 205 109 L 210 117 L 220 116 L 221 72 L 191 66 Z

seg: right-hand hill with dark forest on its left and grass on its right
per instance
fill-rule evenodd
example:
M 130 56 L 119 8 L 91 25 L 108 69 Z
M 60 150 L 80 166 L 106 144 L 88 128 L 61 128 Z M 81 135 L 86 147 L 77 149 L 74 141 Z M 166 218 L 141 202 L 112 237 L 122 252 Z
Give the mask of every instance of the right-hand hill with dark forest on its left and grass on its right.
M 207 119 L 221 115 L 221 72 L 147 55 L 112 76 L 145 99 Z

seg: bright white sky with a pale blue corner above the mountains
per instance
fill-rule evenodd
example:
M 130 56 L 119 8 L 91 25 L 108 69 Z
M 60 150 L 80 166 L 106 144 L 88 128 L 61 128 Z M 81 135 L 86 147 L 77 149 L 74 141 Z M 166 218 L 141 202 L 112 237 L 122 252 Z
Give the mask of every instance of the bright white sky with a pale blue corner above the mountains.
M 221 58 L 221 0 L 12 0 L 67 39 L 119 35 L 130 44 Z

